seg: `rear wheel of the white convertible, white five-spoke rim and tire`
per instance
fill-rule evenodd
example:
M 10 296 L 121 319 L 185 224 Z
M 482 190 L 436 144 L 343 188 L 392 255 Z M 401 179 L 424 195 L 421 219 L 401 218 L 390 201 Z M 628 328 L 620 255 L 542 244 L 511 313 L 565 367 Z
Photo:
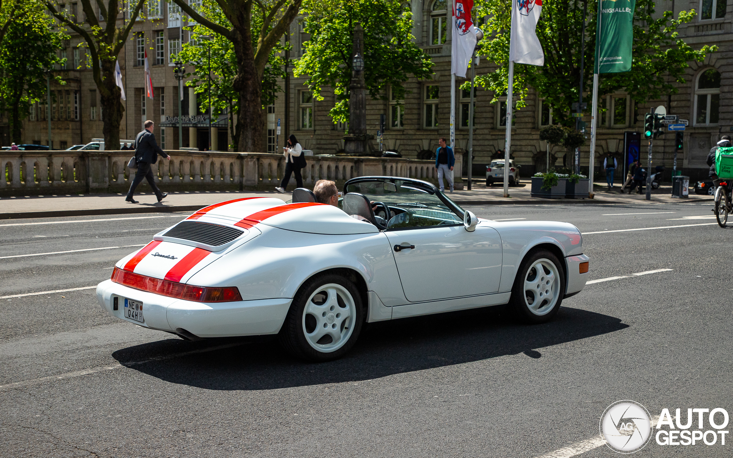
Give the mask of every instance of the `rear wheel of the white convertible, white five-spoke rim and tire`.
M 309 361 L 340 358 L 356 343 L 364 322 L 361 295 L 342 276 L 316 276 L 292 300 L 279 338 L 288 352 Z

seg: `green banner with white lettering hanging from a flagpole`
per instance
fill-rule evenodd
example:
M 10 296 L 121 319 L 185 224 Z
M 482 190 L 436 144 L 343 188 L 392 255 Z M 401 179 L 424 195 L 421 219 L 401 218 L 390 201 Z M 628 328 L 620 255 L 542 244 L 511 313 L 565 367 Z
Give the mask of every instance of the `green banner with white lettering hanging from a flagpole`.
M 594 73 L 631 70 L 636 0 L 599 0 Z

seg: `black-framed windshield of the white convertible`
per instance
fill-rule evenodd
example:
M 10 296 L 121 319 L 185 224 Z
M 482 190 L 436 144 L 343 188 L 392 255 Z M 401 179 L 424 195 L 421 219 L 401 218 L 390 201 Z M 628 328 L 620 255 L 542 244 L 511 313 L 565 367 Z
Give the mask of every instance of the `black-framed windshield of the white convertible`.
M 428 191 L 409 181 L 374 180 L 355 182 L 347 185 L 347 193 L 360 193 L 367 196 L 372 202 L 383 202 L 388 206 L 394 206 L 405 210 L 405 213 L 413 215 L 410 226 L 437 226 L 441 224 L 462 224 L 463 209 L 454 202 L 443 196 L 454 208 L 449 207 L 432 191 Z M 454 210 L 455 209 L 455 210 Z M 397 215 L 399 216 L 399 215 Z M 405 226 L 405 217 L 391 218 L 388 227 Z M 394 220 L 394 221 L 393 221 Z

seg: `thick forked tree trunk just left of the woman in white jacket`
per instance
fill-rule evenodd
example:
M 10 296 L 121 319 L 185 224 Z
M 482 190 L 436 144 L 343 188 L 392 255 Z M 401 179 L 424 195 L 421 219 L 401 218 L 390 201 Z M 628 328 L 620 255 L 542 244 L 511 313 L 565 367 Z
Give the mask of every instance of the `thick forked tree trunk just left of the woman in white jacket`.
M 187 0 L 173 0 L 181 9 L 206 29 L 232 43 L 237 73 L 232 80 L 232 89 L 238 93 L 236 107 L 237 125 L 235 132 L 239 140 L 239 151 L 262 152 L 265 133 L 262 81 L 268 77 L 273 51 L 290 27 L 290 23 L 301 9 L 301 0 L 216 0 L 221 16 L 204 17 L 194 10 Z M 215 0 L 203 0 L 211 5 Z M 233 114 L 233 113 L 232 113 Z M 230 115 L 231 116 L 231 115 Z

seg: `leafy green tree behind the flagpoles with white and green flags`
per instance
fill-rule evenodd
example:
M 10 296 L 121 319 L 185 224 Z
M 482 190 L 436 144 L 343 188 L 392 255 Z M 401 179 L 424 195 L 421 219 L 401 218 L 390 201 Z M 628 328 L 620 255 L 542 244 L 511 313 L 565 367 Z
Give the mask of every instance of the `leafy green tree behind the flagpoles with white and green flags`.
M 585 56 L 584 92 L 591 91 L 593 84 L 596 7 L 597 1 L 589 2 L 589 21 L 582 50 Z M 487 17 L 483 26 L 487 38 L 479 43 L 480 53 L 490 56 L 499 65 L 495 72 L 477 76 L 476 83 L 496 95 L 507 92 L 511 10 L 510 0 L 476 0 L 474 4 L 474 16 Z M 715 51 L 715 46 L 707 45 L 697 51 L 693 50 L 678 37 L 677 28 L 693 20 L 694 10 L 679 12 L 677 19 L 674 19 L 671 11 L 663 12 L 658 19 L 654 19 L 653 15 L 654 0 L 636 1 L 631 70 L 600 75 L 599 97 L 623 90 L 637 103 L 644 103 L 662 95 L 677 93 L 674 83 L 685 83 L 688 62 L 701 62 L 707 53 Z M 540 97 L 545 98 L 545 103 L 553 107 L 553 119 L 563 125 L 574 124 L 574 119 L 570 117 L 570 105 L 578 101 L 582 26 L 581 1 L 548 1 L 542 4 L 537 37 L 545 51 L 545 65 L 537 67 L 515 64 L 513 87 L 517 107 L 524 106 L 523 99 L 527 96 L 528 89 L 533 87 Z

